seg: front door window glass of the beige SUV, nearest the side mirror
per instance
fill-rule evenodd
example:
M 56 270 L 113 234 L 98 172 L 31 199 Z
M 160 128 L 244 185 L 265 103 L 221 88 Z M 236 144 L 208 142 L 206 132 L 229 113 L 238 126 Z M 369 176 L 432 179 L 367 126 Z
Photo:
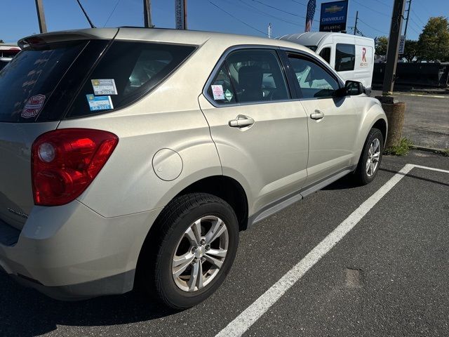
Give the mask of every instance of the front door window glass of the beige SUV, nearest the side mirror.
M 300 84 L 302 98 L 332 97 L 340 88 L 338 81 L 315 62 L 295 55 L 288 55 L 288 58 Z

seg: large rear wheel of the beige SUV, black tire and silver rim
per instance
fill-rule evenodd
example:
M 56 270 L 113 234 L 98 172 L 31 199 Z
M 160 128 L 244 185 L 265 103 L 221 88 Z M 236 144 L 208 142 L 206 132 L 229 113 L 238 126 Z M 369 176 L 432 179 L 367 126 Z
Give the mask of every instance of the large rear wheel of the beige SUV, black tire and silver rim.
M 154 225 L 138 264 L 142 290 L 175 310 L 206 300 L 225 280 L 236 256 L 239 223 L 232 207 L 212 194 L 185 194 L 173 199 Z

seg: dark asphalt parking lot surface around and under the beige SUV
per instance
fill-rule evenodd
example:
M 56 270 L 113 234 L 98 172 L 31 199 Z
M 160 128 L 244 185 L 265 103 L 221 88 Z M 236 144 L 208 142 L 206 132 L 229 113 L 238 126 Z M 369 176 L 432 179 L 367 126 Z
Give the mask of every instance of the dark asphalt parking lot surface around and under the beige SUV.
M 59 302 L 0 275 L 0 336 L 449 336 L 449 173 L 396 175 L 406 164 L 449 170 L 448 157 L 429 152 L 385 156 L 370 185 L 342 178 L 267 218 L 241 232 L 217 293 L 184 312 L 137 293 Z M 349 232 L 297 282 L 276 283 L 341 224 Z M 270 303 L 274 284 L 285 293 Z M 248 324 L 251 315 L 260 319 Z

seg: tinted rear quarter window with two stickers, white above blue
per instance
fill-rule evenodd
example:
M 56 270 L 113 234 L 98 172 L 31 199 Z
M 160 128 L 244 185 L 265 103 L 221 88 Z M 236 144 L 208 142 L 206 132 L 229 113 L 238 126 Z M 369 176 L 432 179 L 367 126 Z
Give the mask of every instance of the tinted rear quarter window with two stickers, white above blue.
M 194 46 L 115 41 L 88 76 L 66 117 L 83 117 L 133 103 L 173 72 Z

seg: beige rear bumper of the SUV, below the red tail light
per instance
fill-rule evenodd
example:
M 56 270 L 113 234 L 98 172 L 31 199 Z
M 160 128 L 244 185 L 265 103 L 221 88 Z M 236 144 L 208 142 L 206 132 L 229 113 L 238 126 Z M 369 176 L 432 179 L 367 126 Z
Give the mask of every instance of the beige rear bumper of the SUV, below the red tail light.
M 126 293 L 159 211 L 105 218 L 79 201 L 35 206 L 22 231 L 15 230 L 16 239 L 0 222 L 0 268 L 61 300 Z

